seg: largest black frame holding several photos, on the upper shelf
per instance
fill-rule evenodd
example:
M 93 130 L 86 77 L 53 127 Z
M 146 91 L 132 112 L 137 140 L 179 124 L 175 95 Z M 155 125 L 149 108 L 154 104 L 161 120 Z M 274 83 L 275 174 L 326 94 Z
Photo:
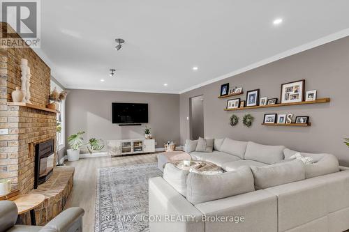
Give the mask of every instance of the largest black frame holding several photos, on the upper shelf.
M 281 103 L 304 101 L 305 80 L 281 84 Z

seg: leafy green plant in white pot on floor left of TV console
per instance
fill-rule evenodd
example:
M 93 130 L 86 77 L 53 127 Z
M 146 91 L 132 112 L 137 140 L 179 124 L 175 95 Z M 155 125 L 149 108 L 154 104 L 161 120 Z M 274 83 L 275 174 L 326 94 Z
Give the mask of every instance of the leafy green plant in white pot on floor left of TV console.
M 80 158 L 80 148 L 86 146 L 89 153 L 92 154 L 94 150 L 102 150 L 104 148 L 103 141 L 101 139 L 91 138 L 89 142 L 84 143 L 84 138 L 82 137 L 84 131 L 77 132 L 68 137 L 68 144 L 70 149 L 67 150 L 68 161 L 76 161 Z

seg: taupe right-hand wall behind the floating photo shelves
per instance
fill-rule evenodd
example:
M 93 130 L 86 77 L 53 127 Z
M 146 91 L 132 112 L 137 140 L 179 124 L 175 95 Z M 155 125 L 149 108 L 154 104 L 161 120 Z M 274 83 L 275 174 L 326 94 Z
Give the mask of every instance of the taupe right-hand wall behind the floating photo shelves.
M 306 90 L 318 90 L 318 98 L 331 98 L 331 102 L 292 107 L 223 111 L 225 99 L 218 99 L 221 84 L 242 86 L 246 91 L 260 88 L 260 97 L 280 98 L 281 84 L 306 79 Z M 255 68 L 235 77 L 224 79 L 180 95 L 181 144 L 189 138 L 189 100 L 204 95 L 205 137 L 230 137 L 262 144 L 284 144 L 304 152 L 333 153 L 341 164 L 349 164 L 349 148 L 343 137 L 349 137 L 349 38 L 330 42 L 285 59 Z M 242 116 L 252 114 L 255 121 L 251 128 L 244 127 Z M 267 113 L 310 116 L 311 127 L 266 127 L 261 125 Z M 231 127 L 232 114 L 241 119 Z

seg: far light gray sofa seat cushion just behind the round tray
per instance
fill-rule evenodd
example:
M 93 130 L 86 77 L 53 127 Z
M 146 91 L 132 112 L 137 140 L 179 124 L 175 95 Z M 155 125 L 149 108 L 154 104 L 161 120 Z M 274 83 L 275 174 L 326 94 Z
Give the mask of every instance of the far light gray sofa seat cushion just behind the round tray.
M 239 157 L 235 155 L 229 155 L 227 153 L 223 153 L 220 151 L 214 150 L 212 153 L 199 153 L 199 152 L 192 152 L 190 153 L 193 160 L 205 160 L 208 162 L 212 162 L 219 167 L 222 167 L 223 164 L 227 162 L 232 162 L 236 160 L 241 160 Z

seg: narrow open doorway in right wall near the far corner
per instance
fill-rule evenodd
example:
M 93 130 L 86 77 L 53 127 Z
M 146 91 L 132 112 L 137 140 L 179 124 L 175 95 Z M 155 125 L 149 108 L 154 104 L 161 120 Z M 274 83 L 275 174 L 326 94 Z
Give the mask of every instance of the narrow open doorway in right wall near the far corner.
M 192 140 L 204 137 L 204 95 L 193 97 L 190 107 L 190 136 Z

